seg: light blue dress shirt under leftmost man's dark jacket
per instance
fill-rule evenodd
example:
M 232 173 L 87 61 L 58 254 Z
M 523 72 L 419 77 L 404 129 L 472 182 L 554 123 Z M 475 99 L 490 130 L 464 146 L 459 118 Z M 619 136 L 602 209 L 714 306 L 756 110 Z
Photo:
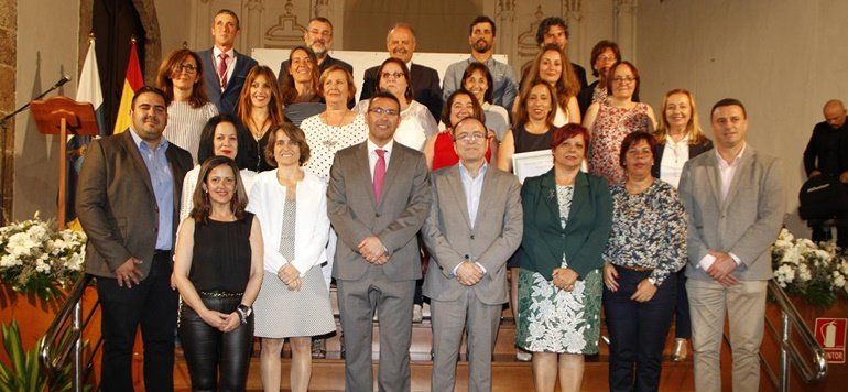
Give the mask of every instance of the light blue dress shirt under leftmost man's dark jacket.
M 167 139 L 160 139 L 159 145 L 151 150 L 135 133 L 130 126 L 132 141 L 139 148 L 139 154 L 144 160 L 144 166 L 148 167 L 150 182 L 153 184 L 153 194 L 156 197 L 156 207 L 159 213 L 159 231 L 156 232 L 156 249 L 173 249 L 174 238 L 171 237 L 171 228 L 174 225 L 174 175 L 171 173 L 171 165 L 167 162 L 165 151 L 170 143 Z

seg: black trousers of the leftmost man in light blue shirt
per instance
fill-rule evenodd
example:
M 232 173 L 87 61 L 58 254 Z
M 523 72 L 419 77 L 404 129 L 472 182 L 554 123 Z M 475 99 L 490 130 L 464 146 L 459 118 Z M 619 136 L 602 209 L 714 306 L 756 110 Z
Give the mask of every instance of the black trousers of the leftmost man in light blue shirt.
M 174 328 L 177 293 L 171 290 L 170 252 L 156 252 L 150 274 L 132 288 L 97 277 L 104 337 L 100 388 L 105 392 L 132 391 L 132 347 L 141 326 L 144 341 L 144 388 L 174 390 Z

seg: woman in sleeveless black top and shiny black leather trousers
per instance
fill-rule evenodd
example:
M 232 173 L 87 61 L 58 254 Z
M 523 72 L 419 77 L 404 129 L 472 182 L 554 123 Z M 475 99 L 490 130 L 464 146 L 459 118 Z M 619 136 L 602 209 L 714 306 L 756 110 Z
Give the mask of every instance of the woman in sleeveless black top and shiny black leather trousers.
M 262 285 L 262 232 L 236 162 L 204 162 L 194 208 L 181 228 L 174 280 L 183 298 L 180 341 L 193 390 L 243 391 Z

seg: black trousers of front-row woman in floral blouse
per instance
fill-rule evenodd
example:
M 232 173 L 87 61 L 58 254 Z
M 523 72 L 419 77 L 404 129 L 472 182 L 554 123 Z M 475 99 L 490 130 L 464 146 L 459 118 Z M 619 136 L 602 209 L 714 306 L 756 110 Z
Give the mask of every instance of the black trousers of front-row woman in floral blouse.
M 619 288 L 604 287 L 604 311 L 610 340 L 610 391 L 656 391 L 660 388 L 663 347 L 677 297 L 677 275 L 671 274 L 651 301 L 630 300 L 650 271 L 616 268 Z

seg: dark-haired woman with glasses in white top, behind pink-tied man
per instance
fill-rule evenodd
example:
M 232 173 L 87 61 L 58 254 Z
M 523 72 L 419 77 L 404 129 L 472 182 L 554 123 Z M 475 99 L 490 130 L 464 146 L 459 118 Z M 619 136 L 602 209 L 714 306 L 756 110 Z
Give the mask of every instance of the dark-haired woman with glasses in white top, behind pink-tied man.
M 417 151 L 424 150 L 427 139 L 438 132 L 438 124 L 427 107 L 412 99 L 412 80 L 410 68 L 398 58 L 387 58 L 377 69 L 380 80 L 377 91 L 391 92 L 401 101 L 401 121 L 394 131 L 394 140 Z M 354 110 L 368 112 L 368 100 L 361 100 Z

